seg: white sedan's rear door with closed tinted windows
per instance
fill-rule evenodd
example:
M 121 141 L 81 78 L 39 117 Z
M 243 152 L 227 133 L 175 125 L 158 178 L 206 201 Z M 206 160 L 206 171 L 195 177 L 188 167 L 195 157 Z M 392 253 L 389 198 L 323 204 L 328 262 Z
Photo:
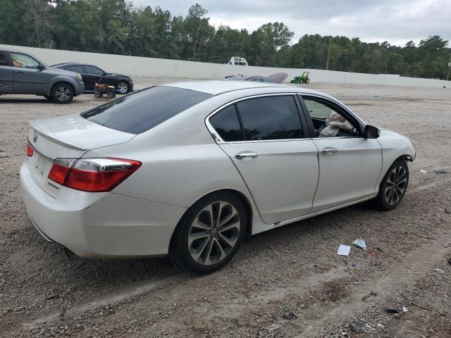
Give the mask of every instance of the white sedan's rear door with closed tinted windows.
M 318 183 L 318 149 L 298 107 L 292 94 L 271 94 L 237 101 L 208 119 L 268 224 L 309 213 Z

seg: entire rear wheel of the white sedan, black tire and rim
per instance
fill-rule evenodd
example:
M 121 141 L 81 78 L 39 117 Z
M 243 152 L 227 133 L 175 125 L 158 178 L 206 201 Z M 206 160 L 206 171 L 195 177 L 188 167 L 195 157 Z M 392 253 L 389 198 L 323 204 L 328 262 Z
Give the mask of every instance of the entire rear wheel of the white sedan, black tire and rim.
M 228 192 L 197 201 L 180 220 L 171 242 L 171 256 L 187 270 L 210 273 L 228 263 L 246 233 L 246 212 Z

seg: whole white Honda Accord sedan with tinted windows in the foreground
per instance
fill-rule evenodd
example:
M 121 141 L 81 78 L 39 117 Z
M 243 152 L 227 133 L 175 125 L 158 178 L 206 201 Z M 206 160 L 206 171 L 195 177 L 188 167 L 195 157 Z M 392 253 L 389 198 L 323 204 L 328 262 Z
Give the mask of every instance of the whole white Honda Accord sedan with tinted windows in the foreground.
M 30 125 L 20 183 L 45 239 L 199 272 L 247 235 L 369 199 L 395 208 L 415 158 L 332 96 L 271 83 L 150 87 Z

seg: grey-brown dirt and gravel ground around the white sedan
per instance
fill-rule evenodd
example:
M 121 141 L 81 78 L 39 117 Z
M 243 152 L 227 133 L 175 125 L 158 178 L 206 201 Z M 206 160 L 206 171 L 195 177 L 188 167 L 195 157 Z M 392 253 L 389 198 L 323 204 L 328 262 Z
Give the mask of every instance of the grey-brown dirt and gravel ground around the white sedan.
M 137 79 L 136 87 L 162 82 Z M 211 275 L 169 258 L 69 261 L 45 242 L 20 199 L 27 120 L 104 99 L 86 94 L 61 106 L 0 96 L 0 337 L 451 337 L 451 90 L 310 87 L 414 139 L 404 201 L 390 212 L 359 204 L 250 237 Z M 358 237 L 368 251 L 337 255 Z

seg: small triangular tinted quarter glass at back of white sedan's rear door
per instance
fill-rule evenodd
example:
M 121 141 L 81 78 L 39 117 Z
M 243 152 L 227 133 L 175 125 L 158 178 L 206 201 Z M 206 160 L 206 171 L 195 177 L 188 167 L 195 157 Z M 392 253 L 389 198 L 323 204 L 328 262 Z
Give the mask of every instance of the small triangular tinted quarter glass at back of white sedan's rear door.
M 228 106 L 210 118 L 210 124 L 226 142 L 242 141 L 243 135 L 235 105 Z

